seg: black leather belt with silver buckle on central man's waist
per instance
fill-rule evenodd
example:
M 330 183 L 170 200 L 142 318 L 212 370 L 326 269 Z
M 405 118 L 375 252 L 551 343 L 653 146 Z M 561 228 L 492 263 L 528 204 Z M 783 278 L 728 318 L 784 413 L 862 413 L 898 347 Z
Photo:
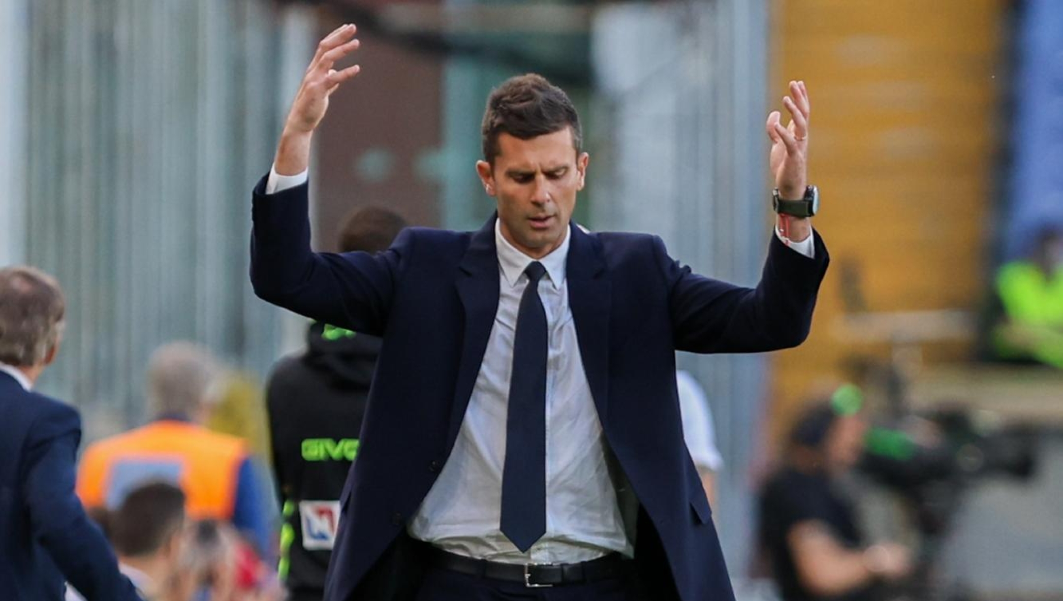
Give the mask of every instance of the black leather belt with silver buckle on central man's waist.
M 435 547 L 428 552 L 428 557 L 429 564 L 437 568 L 492 580 L 521 582 L 528 588 L 620 578 L 629 564 L 620 553 L 610 553 L 578 564 L 503 564 L 473 560 Z

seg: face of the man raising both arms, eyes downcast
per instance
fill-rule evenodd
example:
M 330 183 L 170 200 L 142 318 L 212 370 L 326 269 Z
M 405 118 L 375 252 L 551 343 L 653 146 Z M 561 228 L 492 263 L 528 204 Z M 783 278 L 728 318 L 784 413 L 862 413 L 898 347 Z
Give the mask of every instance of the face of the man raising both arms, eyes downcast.
M 561 246 L 589 161 L 576 155 L 570 128 L 532 139 L 500 134 L 493 167 L 478 161 L 476 172 L 497 201 L 506 240 L 534 258 Z

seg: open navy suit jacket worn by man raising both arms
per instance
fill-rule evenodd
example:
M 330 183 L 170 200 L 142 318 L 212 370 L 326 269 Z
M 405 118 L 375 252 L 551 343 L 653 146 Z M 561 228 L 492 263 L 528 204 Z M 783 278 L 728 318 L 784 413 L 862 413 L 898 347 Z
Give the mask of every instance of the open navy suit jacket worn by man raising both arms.
M 494 322 L 494 217 L 477 232 L 404 230 L 375 255 L 313 253 L 306 185 L 270 196 L 263 186 L 253 206 L 256 294 L 384 339 L 325 592 L 327 601 L 383 598 L 367 583 L 378 574 L 409 580 L 393 565 L 403 557 L 395 541 L 446 462 Z M 570 235 L 567 278 L 579 354 L 608 446 L 641 505 L 639 570 L 654 581 L 656 599 L 732 599 L 682 441 L 675 351 L 800 344 L 826 248 L 816 241 L 812 260 L 772 236 L 760 284 L 742 288 L 692 273 L 656 236 L 576 227 Z

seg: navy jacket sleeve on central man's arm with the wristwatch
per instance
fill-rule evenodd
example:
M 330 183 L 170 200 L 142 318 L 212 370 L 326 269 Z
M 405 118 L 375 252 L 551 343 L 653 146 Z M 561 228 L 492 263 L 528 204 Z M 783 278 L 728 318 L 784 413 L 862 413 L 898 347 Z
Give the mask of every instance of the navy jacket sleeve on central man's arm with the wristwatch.
M 692 273 L 660 238 L 655 253 L 669 285 L 675 348 L 698 353 L 764 352 L 808 337 L 820 283 L 830 258 L 819 233 L 810 258 L 771 236 L 760 283 L 745 288 Z

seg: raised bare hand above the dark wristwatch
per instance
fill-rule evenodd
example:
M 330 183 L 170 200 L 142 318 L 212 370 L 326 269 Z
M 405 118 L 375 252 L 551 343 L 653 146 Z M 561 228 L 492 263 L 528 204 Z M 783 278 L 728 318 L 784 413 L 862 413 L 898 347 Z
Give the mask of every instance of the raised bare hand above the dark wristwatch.
M 767 116 L 767 137 L 773 143 L 771 168 L 779 196 L 796 200 L 805 196 L 808 183 L 809 101 L 805 82 L 790 82 L 790 96 L 782 98 L 782 105 L 790 112 L 788 127 L 782 127 L 778 111 Z

